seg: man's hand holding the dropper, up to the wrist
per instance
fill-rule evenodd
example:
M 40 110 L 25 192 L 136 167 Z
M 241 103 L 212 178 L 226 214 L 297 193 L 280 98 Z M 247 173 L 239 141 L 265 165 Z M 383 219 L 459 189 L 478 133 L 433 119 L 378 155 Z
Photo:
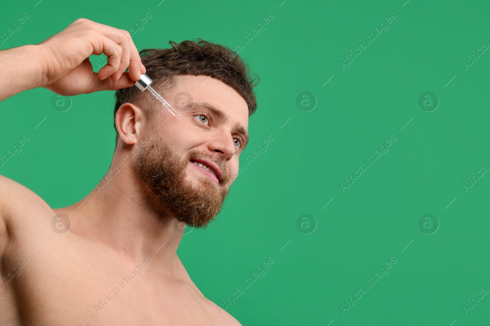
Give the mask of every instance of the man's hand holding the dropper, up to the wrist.
M 39 86 L 61 95 L 130 87 L 146 72 L 129 32 L 84 18 L 37 46 L 42 65 Z M 101 53 L 107 56 L 107 65 L 95 73 L 88 58 Z M 128 66 L 129 73 L 124 72 Z

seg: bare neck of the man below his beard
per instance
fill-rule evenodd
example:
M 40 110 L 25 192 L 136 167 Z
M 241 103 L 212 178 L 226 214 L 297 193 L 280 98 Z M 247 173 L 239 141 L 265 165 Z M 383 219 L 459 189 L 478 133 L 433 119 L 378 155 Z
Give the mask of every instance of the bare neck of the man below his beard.
M 111 165 L 109 171 L 112 169 Z M 138 263 L 146 257 L 158 256 L 160 270 L 173 274 L 175 264 L 180 263 L 176 251 L 185 224 L 168 212 L 155 209 L 164 206 L 130 164 L 109 182 L 104 179 L 87 197 L 56 209 L 56 213 L 70 217 L 70 232 L 102 242 L 128 261 Z

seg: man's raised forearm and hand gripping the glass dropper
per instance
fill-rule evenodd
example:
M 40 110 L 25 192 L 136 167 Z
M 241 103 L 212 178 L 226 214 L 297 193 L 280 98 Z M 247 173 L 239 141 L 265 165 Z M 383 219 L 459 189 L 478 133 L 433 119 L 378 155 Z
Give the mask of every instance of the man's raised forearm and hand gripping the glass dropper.
M 102 53 L 107 65 L 95 73 L 88 58 Z M 145 72 L 129 32 L 80 18 L 39 44 L 0 51 L 0 101 L 36 87 L 61 95 L 116 90 Z

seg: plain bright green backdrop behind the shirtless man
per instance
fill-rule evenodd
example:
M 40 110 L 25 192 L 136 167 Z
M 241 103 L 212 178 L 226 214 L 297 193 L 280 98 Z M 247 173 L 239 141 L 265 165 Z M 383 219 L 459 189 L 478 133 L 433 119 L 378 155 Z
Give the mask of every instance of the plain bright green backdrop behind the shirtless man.
M 29 18 L 0 49 L 40 43 L 80 17 L 129 30 L 146 13 L 138 49 L 197 37 L 235 48 L 272 13 L 239 52 L 261 77 L 241 157 L 274 140 L 242 165 L 216 222 L 183 237 L 177 252 L 196 286 L 221 304 L 272 257 L 227 309 L 243 325 L 488 325 L 487 295 L 466 314 L 462 306 L 490 290 L 490 176 L 466 191 L 462 183 L 490 168 L 490 54 L 466 70 L 462 61 L 490 45 L 490 4 L 405 1 L 8 2 L 1 34 Z M 391 13 L 389 29 L 367 44 Z M 360 43 L 367 48 L 343 69 Z M 300 109 L 305 91 L 314 97 Z M 440 101 L 432 112 L 418 104 L 426 91 Z M 29 141 L 0 174 L 51 207 L 86 196 L 111 162 L 113 94 L 74 96 L 65 112 L 44 88 L 2 101 L 0 154 L 25 134 Z M 367 167 L 391 135 L 389 152 Z M 343 191 L 360 165 L 367 170 Z M 303 214 L 313 217 L 306 231 L 296 227 Z M 433 234 L 418 226 L 425 214 L 439 221 Z M 392 257 L 389 274 L 368 289 L 363 282 Z M 367 292 L 343 313 L 360 287 Z

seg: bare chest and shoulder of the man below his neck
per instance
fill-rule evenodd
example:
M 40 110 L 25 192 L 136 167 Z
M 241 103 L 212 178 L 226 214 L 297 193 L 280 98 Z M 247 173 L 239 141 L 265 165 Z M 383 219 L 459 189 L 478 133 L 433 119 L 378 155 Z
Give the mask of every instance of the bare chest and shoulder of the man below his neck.
M 128 264 L 94 242 L 60 239 L 10 255 L 1 325 L 240 325 L 193 284 L 159 274 L 156 255 Z

